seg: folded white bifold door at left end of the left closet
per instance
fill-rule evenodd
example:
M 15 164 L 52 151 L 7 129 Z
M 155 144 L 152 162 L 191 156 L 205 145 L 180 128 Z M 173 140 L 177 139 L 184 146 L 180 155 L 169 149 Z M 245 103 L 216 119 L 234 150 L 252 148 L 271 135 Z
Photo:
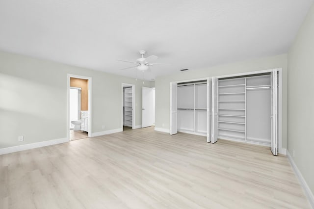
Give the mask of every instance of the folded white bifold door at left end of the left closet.
M 170 135 L 178 133 L 178 84 L 170 83 Z

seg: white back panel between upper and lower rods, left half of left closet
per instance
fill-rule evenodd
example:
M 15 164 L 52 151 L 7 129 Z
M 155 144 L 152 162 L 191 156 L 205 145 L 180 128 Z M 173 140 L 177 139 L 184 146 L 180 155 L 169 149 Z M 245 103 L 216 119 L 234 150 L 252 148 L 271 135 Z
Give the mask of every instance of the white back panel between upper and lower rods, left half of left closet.
M 178 108 L 194 108 L 194 85 L 178 86 Z

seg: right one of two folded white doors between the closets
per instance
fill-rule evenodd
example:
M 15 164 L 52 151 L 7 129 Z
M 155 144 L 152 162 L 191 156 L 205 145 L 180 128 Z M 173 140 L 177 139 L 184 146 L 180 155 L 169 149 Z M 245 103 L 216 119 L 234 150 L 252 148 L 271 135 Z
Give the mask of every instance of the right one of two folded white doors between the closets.
M 211 143 L 215 143 L 218 139 L 218 78 L 212 78 L 211 82 Z

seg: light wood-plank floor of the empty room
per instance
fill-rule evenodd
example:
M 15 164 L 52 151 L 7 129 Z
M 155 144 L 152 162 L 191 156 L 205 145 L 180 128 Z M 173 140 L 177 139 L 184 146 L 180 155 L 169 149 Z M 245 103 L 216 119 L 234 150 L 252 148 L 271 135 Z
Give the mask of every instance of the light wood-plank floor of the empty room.
M 269 148 L 154 131 L 0 156 L 1 209 L 310 208 Z

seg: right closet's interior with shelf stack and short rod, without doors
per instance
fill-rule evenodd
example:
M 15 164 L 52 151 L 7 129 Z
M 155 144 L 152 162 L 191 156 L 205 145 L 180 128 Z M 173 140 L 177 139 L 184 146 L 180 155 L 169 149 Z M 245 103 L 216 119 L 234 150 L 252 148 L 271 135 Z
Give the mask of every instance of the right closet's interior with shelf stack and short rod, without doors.
M 218 80 L 218 138 L 270 145 L 270 75 Z

